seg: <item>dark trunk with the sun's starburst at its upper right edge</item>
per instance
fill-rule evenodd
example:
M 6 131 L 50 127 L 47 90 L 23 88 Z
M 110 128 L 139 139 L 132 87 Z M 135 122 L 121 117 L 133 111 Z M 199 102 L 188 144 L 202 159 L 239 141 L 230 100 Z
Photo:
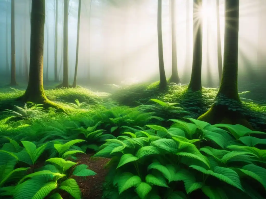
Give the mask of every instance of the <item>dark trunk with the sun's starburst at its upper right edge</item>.
M 202 0 L 194 0 L 193 5 L 193 35 L 196 35 L 193 46 L 192 73 L 188 89 L 196 92 L 201 90 L 201 66 L 202 66 L 202 18 L 198 16 L 198 7 L 202 6 Z

